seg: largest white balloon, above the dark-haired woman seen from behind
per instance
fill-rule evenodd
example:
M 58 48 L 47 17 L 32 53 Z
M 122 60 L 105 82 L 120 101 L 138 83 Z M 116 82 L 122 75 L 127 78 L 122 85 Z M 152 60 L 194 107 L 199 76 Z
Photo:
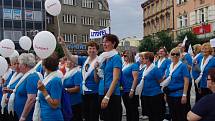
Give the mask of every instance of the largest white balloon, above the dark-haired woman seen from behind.
M 54 52 L 56 38 L 51 32 L 41 31 L 34 37 L 33 48 L 38 57 L 45 59 Z

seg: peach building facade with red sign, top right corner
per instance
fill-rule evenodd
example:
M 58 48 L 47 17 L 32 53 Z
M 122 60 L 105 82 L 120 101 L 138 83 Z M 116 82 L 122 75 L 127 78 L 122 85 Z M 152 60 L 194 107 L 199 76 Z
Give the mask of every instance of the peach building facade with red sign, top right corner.
M 174 23 L 174 38 L 188 30 L 198 38 L 214 36 L 215 0 L 176 0 Z

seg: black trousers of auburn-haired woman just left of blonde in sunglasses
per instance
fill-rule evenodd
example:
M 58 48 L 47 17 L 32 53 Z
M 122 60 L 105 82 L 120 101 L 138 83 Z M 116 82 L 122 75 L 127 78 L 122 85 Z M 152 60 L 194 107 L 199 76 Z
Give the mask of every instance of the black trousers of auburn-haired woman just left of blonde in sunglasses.
M 141 96 L 141 102 L 144 104 L 143 107 L 145 108 L 146 115 L 149 117 L 149 121 L 163 121 L 165 113 L 165 107 L 163 107 L 163 94 L 155 96 Z

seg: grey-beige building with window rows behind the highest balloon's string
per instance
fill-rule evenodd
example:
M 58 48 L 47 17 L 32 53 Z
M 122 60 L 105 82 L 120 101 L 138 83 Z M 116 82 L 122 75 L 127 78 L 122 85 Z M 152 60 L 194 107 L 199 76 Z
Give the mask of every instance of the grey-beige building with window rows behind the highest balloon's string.
M 86 50 L 90 29 L 100 30 L 110 26 L 110 11 L 106 0 L 61 0 L 59 15 L 60 34 L 75 53 Z M 56 17 L 47 15 L 48 30 L 58 35 Z M 101 43 L 101 40 L 96 40 Z

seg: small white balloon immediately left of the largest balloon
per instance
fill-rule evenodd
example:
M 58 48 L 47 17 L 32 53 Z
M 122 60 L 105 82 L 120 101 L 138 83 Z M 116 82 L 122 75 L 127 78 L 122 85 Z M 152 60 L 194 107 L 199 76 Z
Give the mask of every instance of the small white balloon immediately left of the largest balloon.
M 32 45 L 31 39 L 28 36 L 22 36 L 19 39 L 19 45 L 24 50 L 30 50 Z

